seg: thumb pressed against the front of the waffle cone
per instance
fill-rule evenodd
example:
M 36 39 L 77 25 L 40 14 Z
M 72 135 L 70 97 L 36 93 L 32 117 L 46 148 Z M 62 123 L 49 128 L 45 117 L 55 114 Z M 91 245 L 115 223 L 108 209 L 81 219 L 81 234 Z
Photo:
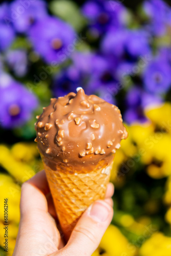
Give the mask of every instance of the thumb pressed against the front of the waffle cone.
M 113 208 L 108 203 L 95 201 L 76 224 L 67 246 L 63 248 L 63 255 L 92 255 L 112 217 Z

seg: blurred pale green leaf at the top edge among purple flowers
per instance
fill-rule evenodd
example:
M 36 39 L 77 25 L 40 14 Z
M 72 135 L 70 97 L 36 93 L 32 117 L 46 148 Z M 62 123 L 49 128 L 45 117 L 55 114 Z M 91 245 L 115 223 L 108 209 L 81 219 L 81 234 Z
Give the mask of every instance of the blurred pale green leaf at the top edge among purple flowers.
M 76 31 L 80 31 L 86 24 L 78 6 L 70 0 L 55 0 L 50 3 L 51 12 L 66 20 Z

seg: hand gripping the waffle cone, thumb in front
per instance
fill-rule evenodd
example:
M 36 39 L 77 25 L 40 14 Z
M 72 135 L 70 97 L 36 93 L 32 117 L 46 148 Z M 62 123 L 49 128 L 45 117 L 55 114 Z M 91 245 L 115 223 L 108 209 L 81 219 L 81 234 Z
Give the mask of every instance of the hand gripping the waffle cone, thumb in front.
M 83 213 L 65 245 L 55 221 L 45 171 L 37 173 L 22 185 L 21 217 L 13 256 L 91 256 L 112 220 L 113 193 L 114 186 L 110 183 L 105 200 L 94 202 Z

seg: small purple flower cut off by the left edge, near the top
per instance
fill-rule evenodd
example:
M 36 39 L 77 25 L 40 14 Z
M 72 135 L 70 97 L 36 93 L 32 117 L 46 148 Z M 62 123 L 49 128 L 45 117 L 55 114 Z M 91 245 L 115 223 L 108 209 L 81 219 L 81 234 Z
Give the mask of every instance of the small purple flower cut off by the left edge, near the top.
M 15 33 L 11 27 L 0 23 L 0 51 L 7 50 L 15 39 Z

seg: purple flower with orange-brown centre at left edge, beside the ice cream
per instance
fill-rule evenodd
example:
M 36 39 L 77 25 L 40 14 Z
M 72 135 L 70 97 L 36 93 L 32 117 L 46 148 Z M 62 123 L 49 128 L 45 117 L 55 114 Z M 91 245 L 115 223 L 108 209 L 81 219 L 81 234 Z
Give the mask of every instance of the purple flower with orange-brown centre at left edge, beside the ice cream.
M 25 124 L 37 108 L 37 98 L 8 74 L 0 77 L 0 120 L 4 128 Z

